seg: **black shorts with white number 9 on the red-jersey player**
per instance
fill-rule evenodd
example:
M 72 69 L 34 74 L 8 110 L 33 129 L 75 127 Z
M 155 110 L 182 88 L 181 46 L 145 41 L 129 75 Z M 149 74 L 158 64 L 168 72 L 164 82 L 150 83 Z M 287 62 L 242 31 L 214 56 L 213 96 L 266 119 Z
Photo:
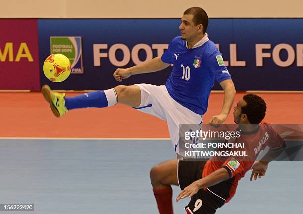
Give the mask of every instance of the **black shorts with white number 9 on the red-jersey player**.
M 205 159 L 200 159 L 200 161 L 197 161 L 197 159 L 195 161 L 179 160 L 178 182 L 181 190 L 202 178 L 206 161 Z M 224 203 L 223 199 L 215 196 L 210 191 L 200 189 L 191 197 L 191 201 L 185 207 L 185 210 L 187 214 L 214 214 L 216 209 L 222 207 Z

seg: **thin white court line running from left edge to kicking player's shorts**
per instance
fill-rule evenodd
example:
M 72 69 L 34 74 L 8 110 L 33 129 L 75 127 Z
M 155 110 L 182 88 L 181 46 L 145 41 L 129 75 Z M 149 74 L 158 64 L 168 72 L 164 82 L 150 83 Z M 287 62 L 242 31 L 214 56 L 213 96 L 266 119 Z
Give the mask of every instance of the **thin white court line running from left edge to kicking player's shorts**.
M 170 140 L 170 138 L 52 138 L 52 137 L 0 137 L 0 140 Z

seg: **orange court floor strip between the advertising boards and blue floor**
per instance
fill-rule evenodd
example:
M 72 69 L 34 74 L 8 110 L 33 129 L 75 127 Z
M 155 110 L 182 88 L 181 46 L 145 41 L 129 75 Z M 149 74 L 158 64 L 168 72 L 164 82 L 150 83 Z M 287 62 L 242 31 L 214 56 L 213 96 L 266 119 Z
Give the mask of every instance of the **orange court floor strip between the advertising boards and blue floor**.
M 236 94 L 234 106 L 244 94 Z M 267 103 L 266 122 L 303 124 L 303 93 L 256 94 Z M 204 123 L 220 112 L 223 96 L 211 93 Z M 165 121 L 120 104 L 71 110 L 56 118 L 40 92 L 0 92 L 0 101 L 1 138 L 169 138 Z M 232 112 L 225 123 L 233 123 Z

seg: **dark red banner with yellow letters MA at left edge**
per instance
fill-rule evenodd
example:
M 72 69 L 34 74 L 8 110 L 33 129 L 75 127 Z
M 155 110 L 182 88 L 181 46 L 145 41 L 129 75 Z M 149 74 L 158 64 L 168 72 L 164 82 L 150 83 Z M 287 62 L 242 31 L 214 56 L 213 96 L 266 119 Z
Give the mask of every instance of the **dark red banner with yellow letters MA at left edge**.
M 0 89 L 40 89 L 37 19 L 0 19 Z

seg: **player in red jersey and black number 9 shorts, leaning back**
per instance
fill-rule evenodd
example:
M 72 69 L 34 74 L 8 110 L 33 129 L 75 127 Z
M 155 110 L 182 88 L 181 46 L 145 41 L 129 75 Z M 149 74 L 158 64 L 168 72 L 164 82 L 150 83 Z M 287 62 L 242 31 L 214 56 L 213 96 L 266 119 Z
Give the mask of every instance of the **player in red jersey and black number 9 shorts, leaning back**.
M 241 135 L 235 142 L 244 142 L 247 157 L 212 157 L 207 161 L 168 160 L 153 167 L 150 173 L 154 195 L 160 214 L 173 214 L 172 189 L 179 185 L 182 192 L 177 201 L 191 197 L 187 214 L 214 214 L 216 209 L 234 196 L 238 181 L 253 169 L 251 180 L 265 175 L 268 163 L 277 158 L 285 147 L 284 140 L 268 124 L 266 103 L 248 94 L 234 107 L 235 123 Z M 260 151 L 268 146 L 268 153 L 255 162 Z

